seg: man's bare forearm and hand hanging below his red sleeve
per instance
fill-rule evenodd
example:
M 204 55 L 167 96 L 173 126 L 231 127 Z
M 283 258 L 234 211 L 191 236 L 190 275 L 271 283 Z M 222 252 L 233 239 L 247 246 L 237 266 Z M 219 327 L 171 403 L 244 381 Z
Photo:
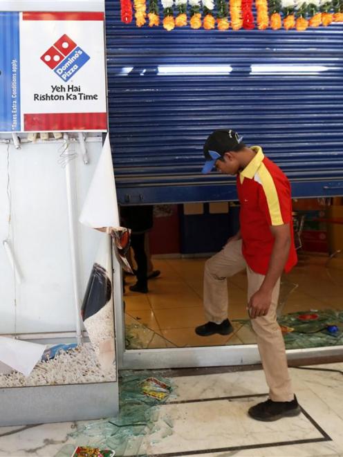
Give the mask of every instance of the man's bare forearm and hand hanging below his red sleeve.
M 275 243 L 272 248 L 266 277 L 259 290 L 252 295 L 248 304 L 249 315 L 252 319 L 265 316 L 268 313 L 272 301 L 272 290 L 284 271 L 290 250 L 289 224 L 270 226 L 270 231 L 275 238 Z

